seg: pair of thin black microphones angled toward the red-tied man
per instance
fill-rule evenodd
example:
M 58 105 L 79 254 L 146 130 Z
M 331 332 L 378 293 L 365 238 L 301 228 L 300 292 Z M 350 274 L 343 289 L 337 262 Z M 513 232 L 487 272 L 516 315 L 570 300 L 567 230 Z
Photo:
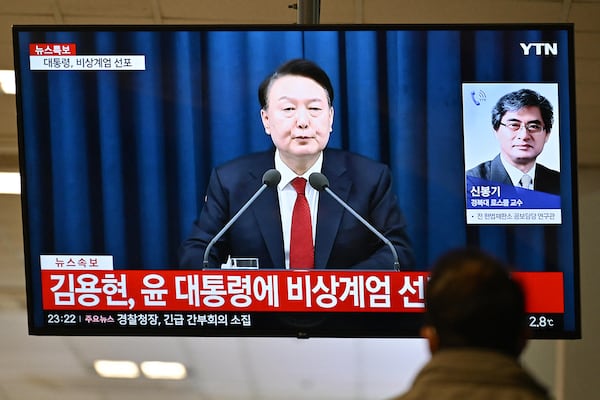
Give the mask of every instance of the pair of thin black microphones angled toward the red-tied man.
M 215 245 L 215 243 L 227 232 L 227 230 L 233 225 L 235 221 L 254 203 L 254 201 L 260 196 L 260 194 L 267 188 L 275 187 L 281 181 L 281 173 L 276 169 L 270 169 L 264 173 L 262 178 L 262 186 L 254 193 L 246 203 L 239 209 L 237 213 L 225 224 L 225 226 L 216 234 L 216 236 L 208 243 L 206 246 L 206 250 L 204 251 L 204 259 L 202 261 L 203 268 L 208 268 L 208 257 L 210 255 L 210 250 Z M 344 200 L 340 199 L 338 195 L 336 195 L 329 188 L 329 179 L 325 175 L 320 172 L 313 172 L 308 177 L 308 182 L 310 185 L 317 190 L 318 192 L 325 191 L 328 193 L 335 201 L 337 201 L 342 207 L 344 207 L 350 214 L 352 214 L 356 219 L 358 219 L 364 226 L 366 226 L 371 232 L 375 234 L 383 243 L 385 243 L 392 252 L 392 256 L 394 258 L 394 269 L 396 271 L 400 270 L 400 262 L 398 261 L 398 253 L 396 252 L 396 248 L 392 244 L 392 242 L 386 238 L 381 232 L 379 232 L 373 225 L 371 225 L 367 220 L 365 220 L 360 214 L 358 214 L 352 207 L 348 205 Z

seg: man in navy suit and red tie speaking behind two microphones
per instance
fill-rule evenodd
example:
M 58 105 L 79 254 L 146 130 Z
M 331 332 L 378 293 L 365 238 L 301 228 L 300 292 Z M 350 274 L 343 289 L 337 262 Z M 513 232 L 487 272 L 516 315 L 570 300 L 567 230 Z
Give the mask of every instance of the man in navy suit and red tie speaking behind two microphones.
M 326 148 L 333 129 L 333 95 L 325 71 L 303 59 L 288 61 L 261 83 L 260 114 L 275 149 L 243 156 L 212 172 L 205 204 L 180 248 L 181 268 L 202 268 L 203 260 L 208 260 L 204 267 L 219 268 L 229 257 L 257 258 L 261 269 L 392 269 L 395 256 L 400 268 L 412 265 L 389 168 Z M 279 171 L 278 183 L 263 178 L 270 169 Z M 327 191 L 368 221 L 387 244 L 333 196 L 314 189 L 307 182 L 313 173 L 322 173 Z M 261 185 L 273 187 L 220 232 Z M 208 246 L 219 233 L 214 247 Z

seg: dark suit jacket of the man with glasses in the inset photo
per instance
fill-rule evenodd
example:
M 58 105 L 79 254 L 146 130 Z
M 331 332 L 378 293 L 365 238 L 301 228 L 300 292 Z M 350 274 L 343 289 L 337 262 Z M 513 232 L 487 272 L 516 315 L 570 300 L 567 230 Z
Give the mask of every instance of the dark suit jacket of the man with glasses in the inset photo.
M 512 185 L 510 176 L 498 154 L 493 160 L 483 162 L 467 171 L 467 176 L 485 179 L 497 183 Z M 535 177 L 533 181 L 533 190 L 540 192 L 560 194 L 560 173 L 553 169 L 537 164 L 535 167 Z

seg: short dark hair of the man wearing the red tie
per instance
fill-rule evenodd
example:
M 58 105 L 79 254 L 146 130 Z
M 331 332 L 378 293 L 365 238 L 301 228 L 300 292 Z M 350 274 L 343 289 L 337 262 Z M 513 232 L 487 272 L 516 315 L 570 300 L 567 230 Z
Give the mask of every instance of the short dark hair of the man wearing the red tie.
M 258 101 L 260 102 L 260 108 L 267 108 L 267 94 L 269 93 L 269 88 L 273 82 L 286 75 L 303 76 L 317 82 L 327 92 L 329 105 L 331 106 L 333 104 L 333 86 L 331 85 L 331 80 L 329 80 L 327 73 L 310 60 L 297 58 L 279 66 L 279 68 L 277 68 L 273 74 L 265 78 L 265 80 L 259 85 Z

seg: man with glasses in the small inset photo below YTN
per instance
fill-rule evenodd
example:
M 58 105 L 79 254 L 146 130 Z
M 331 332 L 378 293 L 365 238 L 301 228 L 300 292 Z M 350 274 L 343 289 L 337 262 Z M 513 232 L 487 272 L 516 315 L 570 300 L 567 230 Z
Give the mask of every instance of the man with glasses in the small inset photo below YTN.
M 550 138 L 552 104 L 531 89 L 505 94 L 492 110 L 500 154 L 467 171 L 467 176 L 525 189 L 560 194 L 560 173 L 536 162 Z

